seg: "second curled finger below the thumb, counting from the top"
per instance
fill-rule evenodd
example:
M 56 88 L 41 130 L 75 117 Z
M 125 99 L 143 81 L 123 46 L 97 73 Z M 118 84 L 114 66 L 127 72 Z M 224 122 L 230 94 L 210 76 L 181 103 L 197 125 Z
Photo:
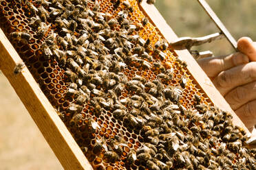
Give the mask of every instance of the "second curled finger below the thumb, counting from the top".
M 225 96 L 230 90 L 256 80 L 256 62 L 250 62 L 222 71 L 213 79 L 213 84 Z

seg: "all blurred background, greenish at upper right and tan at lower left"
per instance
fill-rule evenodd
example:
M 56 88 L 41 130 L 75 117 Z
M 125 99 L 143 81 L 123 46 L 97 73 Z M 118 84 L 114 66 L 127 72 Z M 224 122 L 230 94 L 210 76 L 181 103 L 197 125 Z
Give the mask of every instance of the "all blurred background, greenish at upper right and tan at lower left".
M 256 40 L 256 0 L 211 0 L 208 3 L 236 40 L 242 36 Z M 156 0 L 156 6 L 179 37 L 219 32 L 196 0 Z M 215 56 L 233 52 L 226 40 L 193 49 L 211 50 Z M 1 72 L 0 91 L 0 169 L 63 169 Z

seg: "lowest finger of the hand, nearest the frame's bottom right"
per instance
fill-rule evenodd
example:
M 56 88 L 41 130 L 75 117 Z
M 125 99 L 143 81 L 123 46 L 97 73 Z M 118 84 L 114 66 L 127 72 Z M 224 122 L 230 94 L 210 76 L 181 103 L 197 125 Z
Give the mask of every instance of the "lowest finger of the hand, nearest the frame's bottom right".
M 246 127 L 253 127 L 256 123 L 256 100 L 250 101 L 241 108 L 235 110 L 235 113 Z

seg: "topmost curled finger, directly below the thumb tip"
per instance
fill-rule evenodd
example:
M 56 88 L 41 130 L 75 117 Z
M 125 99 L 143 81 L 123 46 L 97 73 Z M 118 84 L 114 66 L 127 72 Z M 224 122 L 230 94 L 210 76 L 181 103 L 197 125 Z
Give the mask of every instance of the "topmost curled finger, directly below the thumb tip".
M 243 53 L 234 53 L 229 56 L 198 60 L 198 64 L 200 64 L 206 75 L 209 77 L 215 77 L 222 71 L 226 71 L 227 69 L 231 69 L 233 66 L 246 64 L 248 62 L 248 57 Z

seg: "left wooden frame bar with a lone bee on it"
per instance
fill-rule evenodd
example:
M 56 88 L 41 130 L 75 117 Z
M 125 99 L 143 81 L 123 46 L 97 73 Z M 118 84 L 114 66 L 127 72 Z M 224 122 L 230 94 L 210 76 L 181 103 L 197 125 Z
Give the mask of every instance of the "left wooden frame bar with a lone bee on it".
M 14 67 L 23 62 L 0 29 L 0 69 L 50 145 L 64 169 L 92 170 L 67 127 L 45 97 L 26 66 L 18 74 Z

